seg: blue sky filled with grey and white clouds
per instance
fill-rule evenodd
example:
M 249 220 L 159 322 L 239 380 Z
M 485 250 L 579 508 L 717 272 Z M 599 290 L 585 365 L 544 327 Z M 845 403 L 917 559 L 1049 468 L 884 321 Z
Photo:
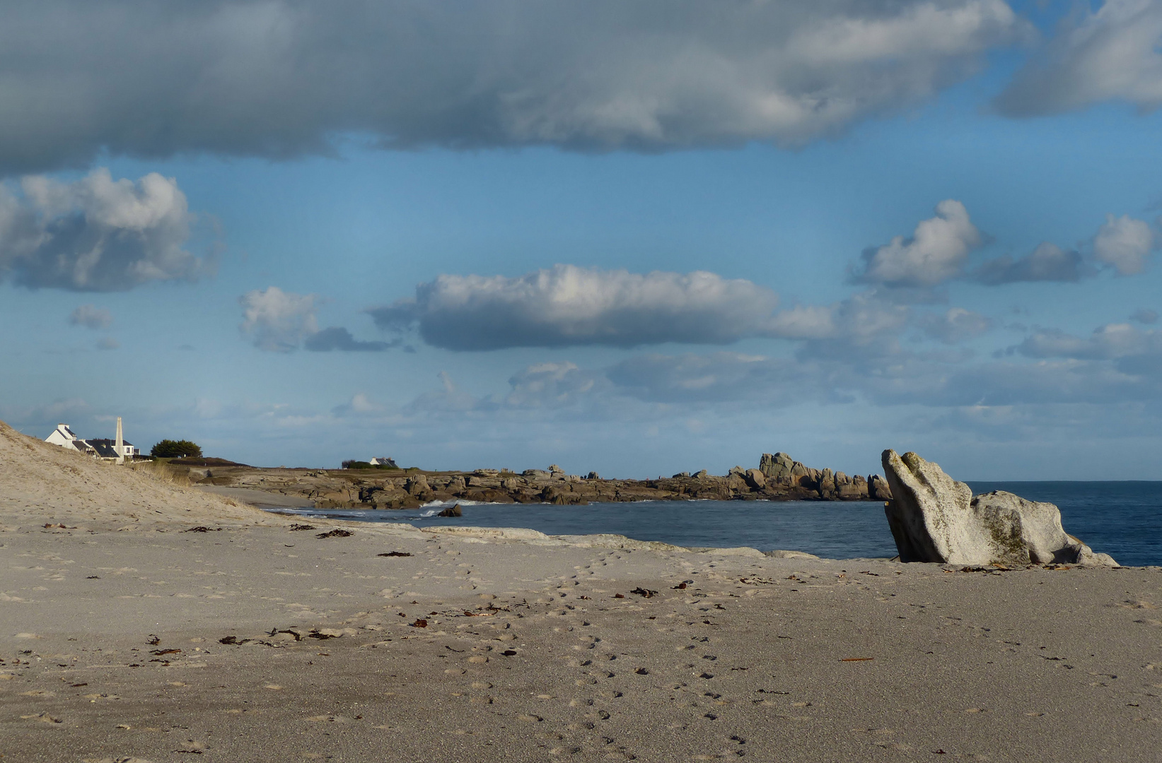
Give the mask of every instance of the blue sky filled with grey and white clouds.
M 0 10 L 0 419 L 1162 480 L 1162 0 Z

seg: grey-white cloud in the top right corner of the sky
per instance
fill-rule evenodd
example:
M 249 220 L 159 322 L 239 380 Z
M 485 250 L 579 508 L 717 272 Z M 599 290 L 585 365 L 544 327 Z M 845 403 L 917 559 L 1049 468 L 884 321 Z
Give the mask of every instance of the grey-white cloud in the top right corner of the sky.
M 1142 110 L 1162 105 L 1162 3 L 1106 0 L 1076 16 L 996 101 L 1010 116 L 1037 116 L 1107 100 Z

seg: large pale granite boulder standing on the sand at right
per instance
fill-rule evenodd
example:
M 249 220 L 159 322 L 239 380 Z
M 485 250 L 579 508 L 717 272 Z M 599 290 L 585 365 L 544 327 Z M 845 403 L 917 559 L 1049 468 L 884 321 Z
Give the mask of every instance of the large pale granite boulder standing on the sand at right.
M 884 451 L 883 468 L 892 495 L 884 511 L 901 561 L 1117 567 L 1066 533 L 1052 503 L 1003 491 L 974 497 L 967 484 L 914 453 Z

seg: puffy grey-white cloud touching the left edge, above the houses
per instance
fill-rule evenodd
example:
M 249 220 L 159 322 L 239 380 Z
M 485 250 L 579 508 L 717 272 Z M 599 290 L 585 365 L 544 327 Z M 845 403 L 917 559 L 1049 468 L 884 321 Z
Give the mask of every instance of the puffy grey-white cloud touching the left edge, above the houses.
M 0 186 L 0 280 L 121 291 L 193 281 L 210 267 L 182 249 L 194 216 L 173 178 L 113 180 L 100 168 L 73 182 L 26 177 L 20 187 Z

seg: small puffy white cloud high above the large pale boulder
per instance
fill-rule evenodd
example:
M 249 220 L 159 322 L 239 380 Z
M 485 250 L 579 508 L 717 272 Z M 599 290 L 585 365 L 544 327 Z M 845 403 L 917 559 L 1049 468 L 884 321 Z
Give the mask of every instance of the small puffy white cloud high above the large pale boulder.
M 854 279 L 890 287 L 932 287 L 959 278 L 968 253 L 982 243 L 981 232 L 964 204 L 947 199 L 937 204 L 935 217 L 920 221 L 911 238 L 863 252 L 863 267 Z

